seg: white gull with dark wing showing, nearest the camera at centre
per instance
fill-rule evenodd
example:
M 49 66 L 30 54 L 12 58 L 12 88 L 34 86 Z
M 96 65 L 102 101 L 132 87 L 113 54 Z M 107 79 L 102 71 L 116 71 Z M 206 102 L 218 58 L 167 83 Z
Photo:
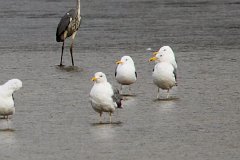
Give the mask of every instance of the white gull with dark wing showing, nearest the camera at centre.
M 113 89 L 103 72 L 95 73 L 92 81 L 94 81 L 90 91 L 92 108 L 100 114 L 100 123 L 102 123 L 101 117 L 103 112 L 109 113 L 109 121 L 112 123 L 112 113 L 116 108 L 122 108 L 122 97 L 118 89 Z

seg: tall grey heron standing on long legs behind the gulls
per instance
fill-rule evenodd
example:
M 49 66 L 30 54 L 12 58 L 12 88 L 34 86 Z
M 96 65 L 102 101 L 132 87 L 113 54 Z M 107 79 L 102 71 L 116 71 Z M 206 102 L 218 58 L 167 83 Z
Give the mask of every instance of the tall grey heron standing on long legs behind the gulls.
M 73 61 L 73 41 L 77 34 L 77 31 L 80 27 L 81 23 L 81 15 L 80 15 L 80 0 L 77 0 L 76 8 L 68 11 L 60 20 L 57 32 L 56 32 L 56 41 L 62 42 L 62 54 L 60 66 L 62 66 L 62 56 L 64 50 L 64 41 L 66 38 L 71 37 L 71 46 L 70 46 L 70 54 L 72 58 L 72 66 L 74 66 Z

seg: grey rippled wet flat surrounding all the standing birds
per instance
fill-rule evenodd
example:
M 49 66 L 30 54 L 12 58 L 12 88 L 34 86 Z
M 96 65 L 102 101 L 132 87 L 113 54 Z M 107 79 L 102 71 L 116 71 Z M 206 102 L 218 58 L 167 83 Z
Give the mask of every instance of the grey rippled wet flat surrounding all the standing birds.
M 23 81 L 16 114 L 0 119 L 1 160 L 182 159 L 240 157 L 240 11 L 235 0 L 81 0 L 82 24 L 63 68 L 55 41 L 60 17 L 75 1 L 0 2 L 0 81 Z M 148 62 L 170 45 L 178 87 L 156 100 Z M 130 55 L 138 80 L 113 124 L 97 124 L 90 81 Z M 125 88 L 128 92 L 127 88 Z M 128 94 L 128 93 L 126 93 Z

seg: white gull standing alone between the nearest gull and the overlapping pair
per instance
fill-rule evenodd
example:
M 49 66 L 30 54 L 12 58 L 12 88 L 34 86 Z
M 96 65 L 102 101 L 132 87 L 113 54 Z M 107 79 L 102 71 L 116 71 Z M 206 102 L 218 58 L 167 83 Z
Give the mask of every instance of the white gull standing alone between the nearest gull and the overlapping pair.
M 122 92 L 123 85 L 130 85 L 136 82 L 137 72 L 134 62 L 130 56 L 123 56 L 120 61 L 116 62 L 116 64 L 118 65 L 115 70 L 115 78 L 117 82 L 121 85 L 120 92 Z

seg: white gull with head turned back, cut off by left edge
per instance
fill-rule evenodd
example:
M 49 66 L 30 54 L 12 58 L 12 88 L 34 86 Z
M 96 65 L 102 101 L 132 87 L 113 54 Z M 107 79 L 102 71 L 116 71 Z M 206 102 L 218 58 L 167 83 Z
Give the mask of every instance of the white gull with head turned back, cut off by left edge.
M 22 81 L 11 79 L 0 86 L 0 115 L 9 119 L 15 113 L 13 93 L 22 87 Z

